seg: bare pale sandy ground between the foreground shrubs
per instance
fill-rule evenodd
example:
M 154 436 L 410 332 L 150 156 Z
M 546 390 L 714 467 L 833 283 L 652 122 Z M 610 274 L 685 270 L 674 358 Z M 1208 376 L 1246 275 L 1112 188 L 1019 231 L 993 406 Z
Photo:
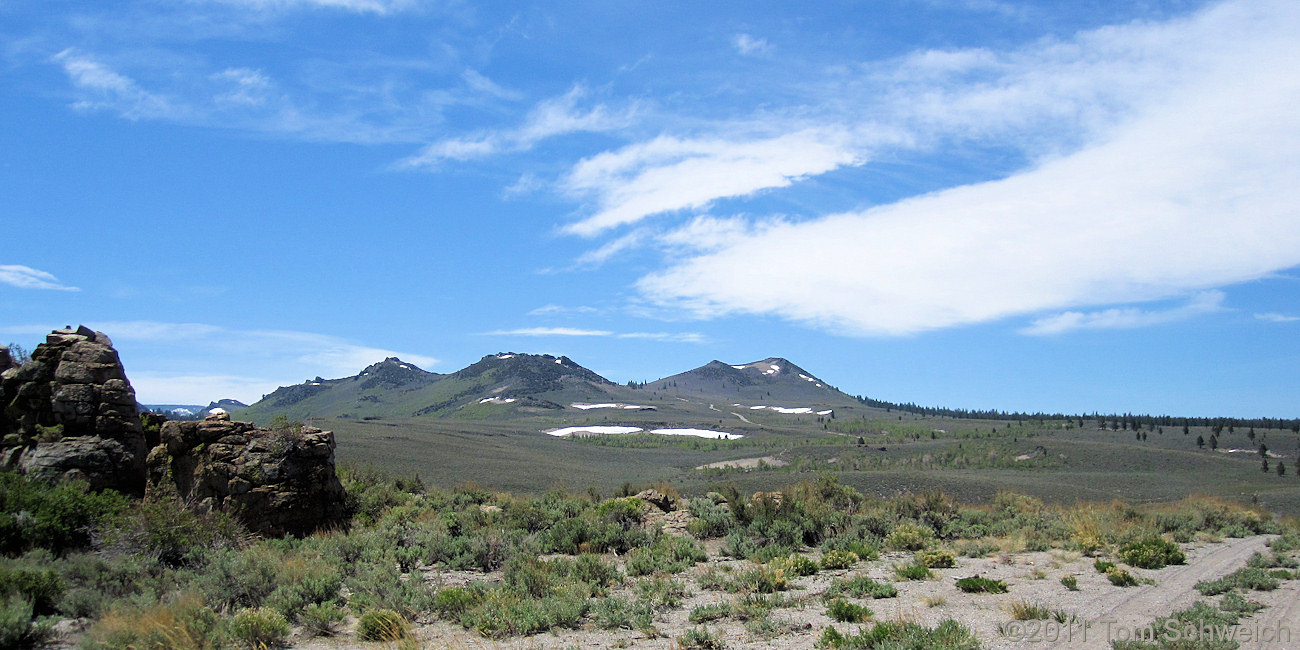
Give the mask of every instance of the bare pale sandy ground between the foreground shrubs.
M 710 623 L 707 628 L 723 638 L 729 649 L 812 649 L 822 629 L 827 625 L 835 625 L 844 633 L 853 633 L 858 628 L 858 625 L 835 623 L 827 618 L 826 604 L 820 594 L 837 577 L 868 575 L 878 581 L 892 581 L 898 588 L 897 598 L 853 599 L 858 604 L 871 607 L 876 620 L 910 620 L 923 625 L 936 625 L 944 619 L 957 619 L 970 627 L 979 636 L 984 647 L 991 650 L 1101 649 L 1109 647 L 1108 629 L 1112 637 L 1118 637 L 1122 634 L 1121 629 L 1149 624 L 1157 616 L 1192 604 L 1201 598 L 1195 590 L 1196 582 L 1217 578 L 1242 568 L 1252 552 L 1265 550 L 1268 541 L 1269 537 L 1260 536 L 1184 546 L 1187 564 L 1158 571 L 1132 569 L 1132 573 L 1139 578 L 1149 578 L 1153 584 L 1131 588 L 1118 588 L 1106 581 L 1105 576 L 1092 568 L 1092 558 L 1082 558 L 1078 554 L 1065 551 L 1004 554 L 978 559 L 959 558 L 956 568 L 936 569 L 937 578 L 928 581 L 894 581 L 894 564 L 909 562 L 911 555 L 887 554 L 879 560 L 859 563 L 852 569 L 822 572 L 816 576 L 794 580 L 796 588 L 785 593 L 792 604 L 774 611 L 771 616 L 780 630 L 776 636 L 755 637 L 745 629 L 744 624 L 732 620 Z M 710 566 L 731 564 L 736 568 L 744 568 L 748 564 L 741 560 L 716 558 L 716 546 L 718 542 L 708 545 L 710 562 L 688 573 L 689 577 L 698 576 Z M 974 575 L 1005 580 L 1010 585 L 1010 590 L 1006 594 L 996 595 L 966 594 L 953 585 L 954 580 Z M 1078 592 L 1070 592 L 1061 585 L 1060 580 L 1066 575 L 1078 578 Z M 471 578 L 499 581 L 500 575 L 448 573 L 437 576 L 430 573 L 429 578 L 441 580 L 443 584 L 464 584 Z M 628 595 L 627 588 L 618 589 L 615 593 Z M 633 630 L 610 632 L 593 628 L 559 630 L 529 638 L 489 641 L 447 621 L 429 621 L 419 625 L 417 634 L 422 647 L 670 649 L 676 647 L 673 641 L 676 636 L 697 627 L 688 620 L 693 607 L 727 602 L 733 598 L 736 597 L 732 594 L 702 590 L 692 584 L 690 595 L 682 606 L 663 614 L 655 621 L 655 628 L 659 632 L 659 636 L 655 637 Z M 1249 594 L 1249 598 L 1265 603 L 1268 608 L 1256 614 L 1254 618 L 1245 619 L 1244 624 L 1274 627 L 1292 624 L 1300 627 L 1300 581 L 1283 582 L 1280 589 L 1271 593 L 1254 592 Z M 1050 638 L 1048 638 L 1048 630 L 1031 629 L 1030 627 L 1019 629 L 1026 637 L 1035 636 L 1035 638 L 1009 637 L 1001 628 L 1011 621 L 1009 608 L 1015 601 L 1041 603 L 1053 610 L 1063 610 L 1072 614 L 1080 623 L 1075 623 L 1070 628 L 1069 636 L 1066 636 L 1066 628 L 1058 625 L 1060 633 L 1050 634 Z M 1089 625 L 1087 633 L 1082 627 L 1083 623 Z M 373 646 L 380 647 L 380 645 Z M 356 642 L 347 637 L 298 640 L 292 647 L 335 650 L 356 647 Z M 1242 647 L 1243 650 L 1274 650 L 1300 647 L 1300 644 L 1243 644 Z

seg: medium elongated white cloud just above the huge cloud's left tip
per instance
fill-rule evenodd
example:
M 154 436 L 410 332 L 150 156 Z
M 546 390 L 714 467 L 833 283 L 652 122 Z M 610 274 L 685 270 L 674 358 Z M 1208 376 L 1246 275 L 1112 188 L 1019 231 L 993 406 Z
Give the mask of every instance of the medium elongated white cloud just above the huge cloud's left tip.
M 722 198 L 786 187 L 861 161 L 841 129 L 805 129 L 749 140 L 660 136 L 575 165 L 564 188 L 594 200 L 598 211 L 564 230 L 590 237 L 653 214 L 701 209 Z

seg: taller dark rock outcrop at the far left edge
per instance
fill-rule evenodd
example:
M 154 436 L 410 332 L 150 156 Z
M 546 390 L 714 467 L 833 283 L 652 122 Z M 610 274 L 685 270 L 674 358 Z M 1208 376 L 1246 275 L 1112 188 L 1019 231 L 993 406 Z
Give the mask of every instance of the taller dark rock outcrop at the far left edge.
M 10 365 L 5 351 L 4 365 Z M 56 330 L 31 360 L 0 373 L 0 465 L 94 489 L 144 491 L 144 434 L 113 342 L 81 326 Z

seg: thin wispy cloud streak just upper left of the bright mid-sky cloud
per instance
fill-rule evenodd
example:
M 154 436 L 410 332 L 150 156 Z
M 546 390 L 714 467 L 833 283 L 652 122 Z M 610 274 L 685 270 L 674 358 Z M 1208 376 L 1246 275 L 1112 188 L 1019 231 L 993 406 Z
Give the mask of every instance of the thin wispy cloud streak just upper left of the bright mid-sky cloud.
M 517 129 L 494 130 L 468 138 L 436 142 L 419 153 L 398 162 L 399 168 L 436 168 L 446 161 L 473 160 L 502 152 L 526 151 L 537 143 L 572 133 L 599 133 L 627 126 L 633 120 L 636 107 L 621 112 L 604 104 L 578 108 L 586 88 L 575 86 L 564 95 L 540 101 Z

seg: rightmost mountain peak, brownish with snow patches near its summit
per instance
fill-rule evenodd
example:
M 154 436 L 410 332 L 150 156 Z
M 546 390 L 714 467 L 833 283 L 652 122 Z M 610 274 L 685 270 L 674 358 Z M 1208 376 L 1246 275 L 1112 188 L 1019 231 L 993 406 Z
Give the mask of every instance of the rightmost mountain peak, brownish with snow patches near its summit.
M 646 386 L 745 406 L 766 404 L 796 408 L 855 406 L 858 403 L 855 398 L 841 393 L 790 360 L 779 356 L 741 365 L 714 360 L 693 370 L 664 377 Z

